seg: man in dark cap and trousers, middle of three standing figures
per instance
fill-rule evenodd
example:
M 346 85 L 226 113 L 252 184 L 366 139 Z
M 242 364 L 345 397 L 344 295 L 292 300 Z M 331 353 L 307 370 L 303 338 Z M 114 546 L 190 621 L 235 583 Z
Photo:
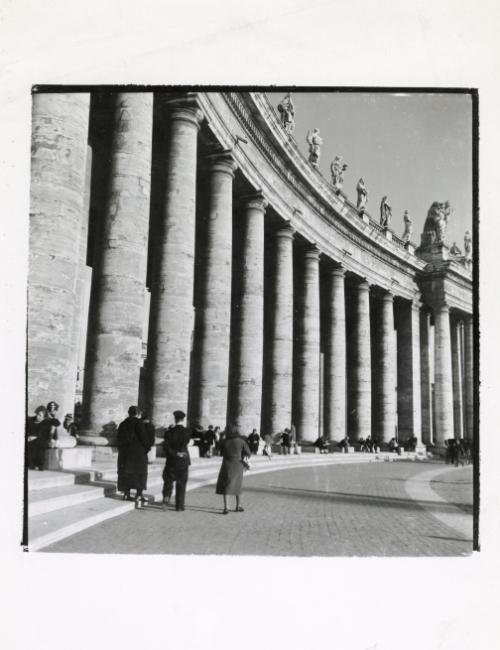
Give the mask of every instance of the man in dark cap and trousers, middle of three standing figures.
M 184 499 L 186 496 L 186 483 L 188 480 L 188 468 L 191 464 L 189 457 L 188 443 L 191 438 L 189 431 L 182 424 L 186 414 L 182 411 L 174 411 L 175 426 L 165 434 L 165 456 L 167 457 L 165 469 L 163 470 L 163 509 L 166 510 L 172 496 L 172 488 L 175 481 L 175 509 L 177 512 L 184 510 Z

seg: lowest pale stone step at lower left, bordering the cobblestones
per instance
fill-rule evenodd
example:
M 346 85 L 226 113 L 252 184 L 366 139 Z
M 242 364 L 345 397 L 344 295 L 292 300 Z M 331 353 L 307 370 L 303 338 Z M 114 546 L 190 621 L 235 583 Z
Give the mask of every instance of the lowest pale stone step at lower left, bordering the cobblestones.
M 134 507 L 131 501 L 102 498 L 30 517 L 28 548 L 31 551 L 39 550 L 90 526 L 130 512 Z

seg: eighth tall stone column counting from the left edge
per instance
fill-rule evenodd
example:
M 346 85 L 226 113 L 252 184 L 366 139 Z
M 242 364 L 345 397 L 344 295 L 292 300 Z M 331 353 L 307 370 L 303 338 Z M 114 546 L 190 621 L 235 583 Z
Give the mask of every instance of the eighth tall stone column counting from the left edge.
M 342 440 L 346 433 L 346 331 L 345 271 L 331 271 L 328 285 L 327 327 L 324 356 L 324 433 Z

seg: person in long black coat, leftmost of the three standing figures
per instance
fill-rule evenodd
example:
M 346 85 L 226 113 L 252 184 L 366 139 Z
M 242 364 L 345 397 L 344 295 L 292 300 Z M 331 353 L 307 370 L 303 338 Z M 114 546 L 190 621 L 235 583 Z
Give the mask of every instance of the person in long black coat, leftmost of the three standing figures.
M 130 490 L 136 491 L 135 502 L 140 508 L 148 481 L 148 451 L 151 447 L 146 428 L 137 406 L 131 406 L 128 417 L 118 426 L 118 490 L 124 499 L 130 499 Z

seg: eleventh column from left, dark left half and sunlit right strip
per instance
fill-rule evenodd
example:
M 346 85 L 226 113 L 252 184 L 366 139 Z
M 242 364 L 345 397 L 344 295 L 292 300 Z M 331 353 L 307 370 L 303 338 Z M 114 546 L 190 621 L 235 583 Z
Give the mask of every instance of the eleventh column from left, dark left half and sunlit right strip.
M 397 327 L 398 345 L 398 434 L 405 442 L 422 439 L 420 392 L 420 303 L 401 303 Z

